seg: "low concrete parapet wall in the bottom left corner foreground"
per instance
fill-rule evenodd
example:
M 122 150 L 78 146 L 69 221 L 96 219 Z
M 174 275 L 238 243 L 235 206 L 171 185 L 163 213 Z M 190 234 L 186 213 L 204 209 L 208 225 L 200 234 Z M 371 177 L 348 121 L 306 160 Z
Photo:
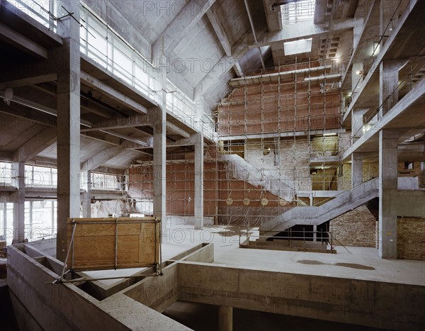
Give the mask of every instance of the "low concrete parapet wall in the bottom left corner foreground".
M 23 245 L 18 247 L 24 249 Z M 8 287 L 42 329 L 128 330 L 98 308 L 96 299 L 77 286 L 46 284 L 56 278 L 57 274 L 17 247 L 8 247 Z M 28 323 L 32 324 L 29 320 Z

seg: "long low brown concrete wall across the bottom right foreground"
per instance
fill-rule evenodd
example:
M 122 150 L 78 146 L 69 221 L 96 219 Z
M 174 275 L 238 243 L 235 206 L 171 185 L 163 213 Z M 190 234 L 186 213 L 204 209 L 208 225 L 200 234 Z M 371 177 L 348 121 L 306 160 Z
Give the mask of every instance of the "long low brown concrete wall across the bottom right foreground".
M 392 330 L 423 330 L 425 287 L 179 263 L 179 300 Z

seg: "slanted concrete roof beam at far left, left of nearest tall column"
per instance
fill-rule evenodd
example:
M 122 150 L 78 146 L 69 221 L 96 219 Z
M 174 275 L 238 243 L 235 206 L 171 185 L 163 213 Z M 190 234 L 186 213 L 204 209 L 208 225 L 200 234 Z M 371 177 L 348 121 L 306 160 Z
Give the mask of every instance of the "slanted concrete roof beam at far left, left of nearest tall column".
M 38 153 L 45 150 L 56 141 L 56 130 L 52 128 L 44 128 L 40 133 L 25 142 L 21 147 L 13 152 L 14 162 L 25 162 L 32 159 Z

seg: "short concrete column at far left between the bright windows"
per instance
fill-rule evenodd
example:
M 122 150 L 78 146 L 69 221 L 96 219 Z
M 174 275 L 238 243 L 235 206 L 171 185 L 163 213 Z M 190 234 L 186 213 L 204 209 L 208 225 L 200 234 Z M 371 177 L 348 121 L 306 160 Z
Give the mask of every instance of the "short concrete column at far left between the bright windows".
M 25 239 L 25 163 L 13 162 L 13 243 Z

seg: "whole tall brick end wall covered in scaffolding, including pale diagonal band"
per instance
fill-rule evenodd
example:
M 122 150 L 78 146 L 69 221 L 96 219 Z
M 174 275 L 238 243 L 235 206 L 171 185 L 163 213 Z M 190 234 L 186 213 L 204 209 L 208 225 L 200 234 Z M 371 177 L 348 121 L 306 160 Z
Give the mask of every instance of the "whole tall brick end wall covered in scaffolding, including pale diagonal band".
M 215 113 L 219 142 L 205 147 L 204 215 L 219 224 L 256 226 L 305 204 L 300 190 L 339 189 L 339 164 L 311 172 L 312 157 L 340 152 L 338 68 L 320 62 L 229 82 Z M 327 136 L 331 133 L 334 136 Z M 193 150 L 167 150 L 166 213 L 193 216 Z M 132 198 L 152 201 L 152 163 L 129 170 Z

